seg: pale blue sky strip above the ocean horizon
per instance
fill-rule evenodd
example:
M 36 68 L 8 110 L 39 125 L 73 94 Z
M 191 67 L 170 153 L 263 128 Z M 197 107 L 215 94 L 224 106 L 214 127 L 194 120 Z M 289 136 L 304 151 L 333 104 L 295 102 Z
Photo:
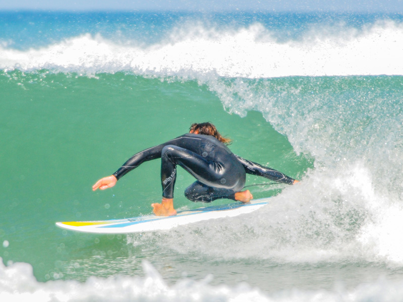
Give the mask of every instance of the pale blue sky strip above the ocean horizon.
M 0 0 L 0 10 L 268 10 L 403 13 L 403 0 Z

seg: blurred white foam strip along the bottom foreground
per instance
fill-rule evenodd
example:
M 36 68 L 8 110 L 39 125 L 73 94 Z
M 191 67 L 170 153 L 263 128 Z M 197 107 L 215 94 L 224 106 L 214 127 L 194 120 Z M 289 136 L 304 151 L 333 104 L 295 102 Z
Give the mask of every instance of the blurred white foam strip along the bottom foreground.
M 0 259 L 1 260 L 1 259 Z M 45 283 L 36 281 L 32 266 L 15 263 L 8 267 L 0 261 L 0 298 L 5 301 L 33 299 L 46 301 L 401 301 L 403 282 L 377 281 L 361 284 L 354 289 L 340 284 L 333 290 L 278 290 L 271 293 L 252 288 L 246 283 L 234 287 L 212 286 L 211 275 L 201 281 L 187 278 L 168 285 L 158 271 L 143 262 L 145 277 L 115 276 L 90 277 L 86 282 L 56 280 Z

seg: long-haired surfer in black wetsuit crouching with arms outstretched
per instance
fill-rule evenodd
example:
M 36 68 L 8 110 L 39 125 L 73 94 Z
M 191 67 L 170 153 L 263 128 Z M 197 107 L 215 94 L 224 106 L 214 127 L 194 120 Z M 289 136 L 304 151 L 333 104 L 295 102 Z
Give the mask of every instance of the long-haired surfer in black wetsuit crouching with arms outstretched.
M 220 198 L 249 202 L 253 198 L 250 191 L 241 191 L 246 173 L 289 185 L 298 182 L 277 170 L 233 154 L 227 147 L 230 142 L 211 123 L 192 124 L 189 133 L 133 155 L 115 173 L 99 179 L 92 189 L 112 188 L 118 179 L 143 162 L 161 158 L 162 201 L 151 206 L 156 215 L 171 216 L 176 215 L 173 207 L 176 165 L 197 179 L 185 190 L 186 198 L 194 202 L 212 202 Z

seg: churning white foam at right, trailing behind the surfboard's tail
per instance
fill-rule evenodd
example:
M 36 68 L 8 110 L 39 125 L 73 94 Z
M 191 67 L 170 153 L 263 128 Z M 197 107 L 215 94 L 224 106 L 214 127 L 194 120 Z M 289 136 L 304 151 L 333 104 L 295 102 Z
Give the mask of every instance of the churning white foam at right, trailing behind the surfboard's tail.
M 158 245 L 182 255 L 226 261 L 399 267 L 403 210 L 373 184 L 363 161 L 318 167 L 259 211 L 178 227 L 160 234 Z M 129 237 L 128 243 L 150 244 L 152 237 L 136 237 L 138 242 Z

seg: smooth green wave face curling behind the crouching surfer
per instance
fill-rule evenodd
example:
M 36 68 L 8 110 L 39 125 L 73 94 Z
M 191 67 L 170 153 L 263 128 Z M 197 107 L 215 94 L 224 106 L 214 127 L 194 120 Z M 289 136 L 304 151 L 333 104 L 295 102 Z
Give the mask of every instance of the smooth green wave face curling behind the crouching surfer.
M 13 71 L 0 74 L 0 91 L 0 241 L 9 242 L 0 253 L 5 263 L 31 263 L 38 280 L 69 278 L 71 263 L 94 256 L 111 257 L 111 263 L 130 259 L 133 248 L 125 236 L 72 234 L 54 223 L 150 214 L 150 204 L 161 198 L 158 160 L 127 174 L 111 190 L 92 192 L 91 186 L 132 154 L 187 132 L 191 123 L 213 122 L 233 139 L 234 153 L 290 176 L 301 177 L 312 166 L 261 113 L 229 114 L 215 92 L 194 81 Z M 177 208 L 202 206 L 183 196 L 192 182 L 179 170 Z M 262 182 L 249 177 L 247 185 Z M 254 197 L 262 198 L 284 186 L 252 188 Z M 122 257 L 126 260 L 117 260 Z M 95 264 L 80 267 L 84 279 L 112 273 Z

